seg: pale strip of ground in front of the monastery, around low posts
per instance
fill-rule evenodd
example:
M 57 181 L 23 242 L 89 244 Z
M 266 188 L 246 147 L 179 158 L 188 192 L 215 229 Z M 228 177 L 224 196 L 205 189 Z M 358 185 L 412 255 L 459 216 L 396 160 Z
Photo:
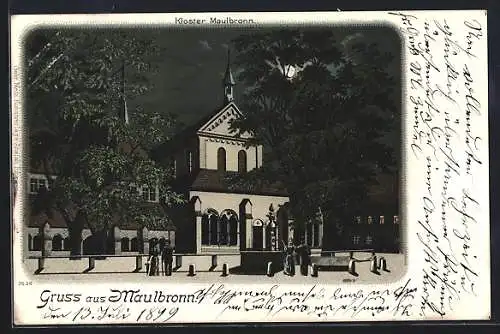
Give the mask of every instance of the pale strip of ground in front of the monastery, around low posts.
M 274 276 L 268 277 L 265 274 L 260 275 L 244 275 L 232 274 L 222 276 L 222 265 L 226 264 L 231 269 L 239 266 L 239 256 L 219 256 L 218 266 L 211 267 L 210 257 L 185 257 L 183 258 L 183 266 L 177 268 L 172 276 L 146 276 L 143 268 L 140 272 L 132 272 L 135 268 L 134 258 L 114 258 L 110 260 L 96 261 L 95 269 L 84 273 L 88 267 L 88 260 L 68 260 L 68 259 L 50 259 L 47 260 L 45 269 L 38 275 L 34 275 L 36 281 L 78 281 L 85 283 L 103 282 L 112 279 L 114 282 L 175 282 L 175 283 L 210 283 L 210 282 L 227 282 L 227 283 L 382 283 L 393 282 L 399 280 L 406 272 L 404 256 L 401 254 L 377 254 L 380 258 L 383 256 L 387 260 L 387 271 L 380 270 L 378 274 L 370 272 L 370 262 L 357 262 L 356 274 L 351 275 L 347 271 L 320 271 L 318 277 L 311 276 L 311 268 L 309 275 L 302 276 L 299 272 L 299 267 L 296 268 L 296 275 L 290 277 L 285 275 L 283 271 L 275 273 Z M 356 257 L 356 255 L 355 255 Z M 367 255 L 365 254 L 366 258 Z M 359 256 L 360 259 L 363 256 Z M 196 275 L 188 275 L 188 267 L 194 264 Z M 36 260 L 27 260 L 27 273 L 34 273 L 37 269 Z

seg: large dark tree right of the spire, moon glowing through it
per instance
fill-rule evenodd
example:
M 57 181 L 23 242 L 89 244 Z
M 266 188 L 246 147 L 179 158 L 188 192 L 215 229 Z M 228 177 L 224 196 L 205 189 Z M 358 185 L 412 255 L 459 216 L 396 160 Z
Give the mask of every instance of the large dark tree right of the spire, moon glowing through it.
M 232 181 L 282 182 L 302 224 L 318 207 L 330 224 L 351 219 L 395 163 L 384 142 L 399 119 L 397 82 L 387 71 L 393 56 L 352 35 L 344 44 L 335 37 L 331 29 L 289 29 L 234 40 L 239 82 L 248 88 L 231 127 L 252 133 L 269 154 L 268 164 Z

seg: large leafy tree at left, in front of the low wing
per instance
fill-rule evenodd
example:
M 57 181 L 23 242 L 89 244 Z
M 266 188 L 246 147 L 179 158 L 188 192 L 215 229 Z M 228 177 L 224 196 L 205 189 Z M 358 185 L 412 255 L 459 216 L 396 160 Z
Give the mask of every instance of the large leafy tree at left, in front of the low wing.
M 34 213 L 57 210 L 70 229 L 86 224 L 94 235 L 118 220 L 166 227 L 165 211 L 183 199 L 169 186 L 172 171 L 149 152 L 168 140 L 174 118 L 134 106 L 161 53 L 154 37 L 39 30 L 28 38 L 30 160 L 49 181 Z M 161 206 L 145 205 L 146 189 L 156 187 Z

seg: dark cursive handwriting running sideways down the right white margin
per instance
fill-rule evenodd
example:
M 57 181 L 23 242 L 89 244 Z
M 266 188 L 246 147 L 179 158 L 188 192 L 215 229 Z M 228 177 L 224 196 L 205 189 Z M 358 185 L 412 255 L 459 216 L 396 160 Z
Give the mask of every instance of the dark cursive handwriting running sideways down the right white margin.
M 480 54 L 484 49 L 477 45 L 485 32 L 475 19 L 452 23 L 391 15 L 400 18 L 411 55 L 407 64 L 410 176 L 421 184 L 425 181 L 414 202 L 418 211 L 411 211 L 415 219 L 408 222 L 409 238 L 418 239 L 424 261 L 418 313 L 444 317 L 462 297 L 476 294 L 482 269 L 474 231 L 488 223 L 477 219 L 487 209 L 481 208 L 478 198 L 488 189 L 474 187 L 474 177 L 481 173 L 487 152 L 487 137 L 479 127 L 487 101 L 480 94 L 482 72 L 475 69 L 478 57 L 484 57 Z M 412 192 L 418 189 L 410 187 Z

